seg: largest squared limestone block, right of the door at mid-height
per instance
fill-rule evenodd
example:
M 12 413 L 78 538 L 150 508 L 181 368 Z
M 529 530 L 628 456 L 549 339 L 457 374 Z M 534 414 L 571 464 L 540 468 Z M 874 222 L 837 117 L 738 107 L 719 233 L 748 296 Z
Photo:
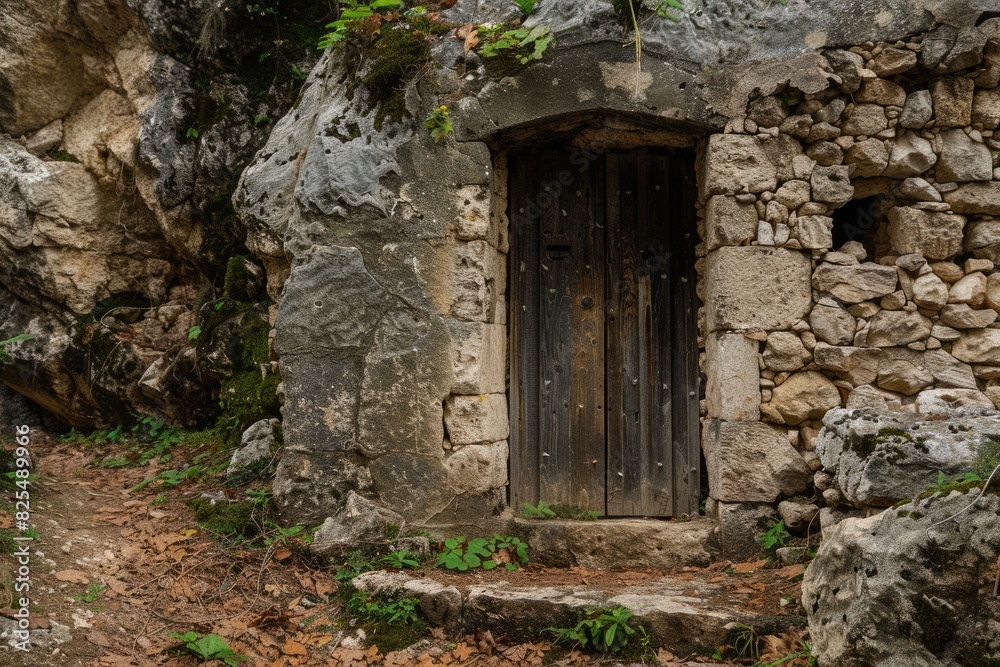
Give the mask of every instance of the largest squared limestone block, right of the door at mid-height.
M 707 264 L 710 331 L 790 329 L 809 311 L 810 262 L 800 252 L 760 246 L 719 248 L 709 254 Z

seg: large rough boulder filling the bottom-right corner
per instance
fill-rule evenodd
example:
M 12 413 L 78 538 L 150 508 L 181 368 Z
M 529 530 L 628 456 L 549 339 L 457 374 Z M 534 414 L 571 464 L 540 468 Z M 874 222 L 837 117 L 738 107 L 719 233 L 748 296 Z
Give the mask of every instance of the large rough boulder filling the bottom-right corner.
M 993 594 L 1000 497 L 954 491 L 824 531 L 802 604 L 812 655 L 836 667 L 1000 660 Z M 957 516 L 956 516 L 957 515 Z

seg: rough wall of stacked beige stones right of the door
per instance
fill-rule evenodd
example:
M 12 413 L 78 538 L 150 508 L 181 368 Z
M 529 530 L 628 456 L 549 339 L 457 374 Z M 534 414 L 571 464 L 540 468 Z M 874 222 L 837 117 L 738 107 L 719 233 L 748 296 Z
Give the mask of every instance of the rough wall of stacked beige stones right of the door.
M 805 491 L 831 408 L 1000 406 L 1000 21 L 823 56 L 826 86 L 750 99 L 700 173 L 723 515 Z

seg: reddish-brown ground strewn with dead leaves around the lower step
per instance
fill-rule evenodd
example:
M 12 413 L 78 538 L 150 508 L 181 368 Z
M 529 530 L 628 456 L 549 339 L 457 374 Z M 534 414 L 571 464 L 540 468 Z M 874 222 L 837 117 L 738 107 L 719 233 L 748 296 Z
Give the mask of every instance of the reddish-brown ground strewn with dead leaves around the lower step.
M 270 538 L 274 541 L 269 545 L 248 548 L 219 540 L 199 526 L 189 507 L 192 499 L 235 499 L 245 489 L 206 478 L 175 486 L 158 480 L 132 491 L 164 470 L 183 470 L 201 453 L 197 448 L 178 446 L 169 462 L 153 459 L 146 466 L 108 467 L 134 452 L 120 444 L 36 440 L 32 447 L 40 477 L 30 486 L 31 523 L 38 533 L 29 565 L 32 649 L 22 653 L 12 646 L 17 564 L 13 556 L 4 555 L 0 559 L 4 639 L 0 661 L 5 665 L 194 665 L 196 658 L 171 636 L 190 631 L 199 636 L 214 633 L 233 652 L 248 657 L 243 664 L 262 666 L 614 662 L 555 646 L 545 635 L 519 643 L 488 630 L 463 637 L 431 628 L 409 648 L 383 651 L 377 642 L 369 645 L 359 637 L 345 613 L 335 578 L 338 564 L 317 562 L 300 539 L 282 540 L 273 529 Z M 0 527 L 9 536 L 14 534 L 9 529 L 14 525 L 15 508 L 10 504 L 12 491 L 4 494 Z M 537 565 L 514 573 L 414 572 L 417 578 L 460 589 L 507 581 L 520 587 L 587 586 L 608 595 L 653 586 L 669 574 L 691 590 L 714 587 L 710 605 L 790 614 L 798 607 L 802 568 L 750 561 L 674 573 Z M 801 648 L 801 637 L 794 632 L 759 639 L 765 657 L 782 657 Z M 732 647 L 721 650 L 729 655 L 734 651 Z M 716 662 L 708 656 L 675 656 L 655 648 L 645 661 L 664 665 Z

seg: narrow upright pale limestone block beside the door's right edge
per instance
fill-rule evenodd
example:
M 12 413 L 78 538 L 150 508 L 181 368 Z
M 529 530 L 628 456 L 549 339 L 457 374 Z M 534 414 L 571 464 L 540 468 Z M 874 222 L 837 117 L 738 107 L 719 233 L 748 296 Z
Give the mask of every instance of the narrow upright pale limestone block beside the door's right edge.
M 757 341 L 738 333 L 713 333 L 705 347 L 708 416 L 727 421 L 760 419 Z

